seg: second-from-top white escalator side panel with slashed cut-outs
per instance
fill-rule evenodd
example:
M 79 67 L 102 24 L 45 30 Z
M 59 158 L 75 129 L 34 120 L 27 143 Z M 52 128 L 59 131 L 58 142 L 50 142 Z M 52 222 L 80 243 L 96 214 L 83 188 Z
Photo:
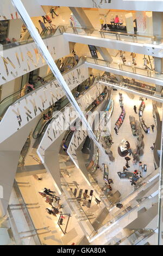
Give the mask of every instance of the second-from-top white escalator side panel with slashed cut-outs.
M 72 90 L 89 77 L 89 71 L 85 64 L 77 66 L 75 69 L 64 75 L 65 81 Z M 64 92 L 59 87 L 56 80 L 34 90 L 20 101 L 11 105 L 5 113 L 0 123 L 0 143 L 5 141 L 13 133 L 17 132 L 24 125 L 32 121 L 37 115 L 58 101 Z

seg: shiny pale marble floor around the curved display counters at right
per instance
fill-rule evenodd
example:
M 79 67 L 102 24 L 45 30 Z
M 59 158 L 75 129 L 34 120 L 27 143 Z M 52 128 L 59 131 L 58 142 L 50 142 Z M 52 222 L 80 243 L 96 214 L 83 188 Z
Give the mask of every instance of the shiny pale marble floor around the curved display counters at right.
M 123 171 L 123 166 L 126 164 L 126 160 L 124 160 L 123 157 L 118 155 L 117 148 L 118 145 L 121 143 L 122 139 L 127 139 L 130 143 L 130 147 L 135 149 L 136 145 L 136 139 L 137 137 L 133 136 L 133 133 L 131 132 L 131 127 L 129 123 L 129 115 L 132 115 L 135 117 L 136 120 L 139 120 L 139 115 L 135 114 L 134 112 L 134 105 L 137 107 L 137 112 L 139 109 L 139 106 L 141 104 L 141 101 L 139 100 L 139 96 L 135 95 L 134 99 L 130 99 L 130 97 L 127 95 L 126 92 L 120 92 L 123 95 L 123 101 L 124 101 L 124 108 L 126 109 L 126 117 L 124 119 L 124 122 L 122 126 L 120 127 L 120 130 L 118 132 L 118 135 L 116 135 L 114 131 L 115 123 L 121 113 L 121 108 L 119 104 L 119 93 L 120 91 L 112 91 L 112 97 L 114 99 L 114 111 L 112 113 L 111 117 L 111 135 L 112 135 L 112 141 L 114 144 L 111 146 L 111 151 L 115 157 L 115 162 L 110 162 L 108 157 L 104 157 L 103 155 L 100 156 L 99 163 L 102 169 L 102 163 L 105 162 L 109 166 L 109 178 L 114 181 L 114 184 L 111 184 L 111 187 L 113 189 L 112 192 L 119 191 L 121 193 L 121 199 L 128 196 L 131 192 L 134 191 L 134 187 L 131 186 L 129 180 L 121 180 L 117 174 L 117 172 L 122 172 Z M 155 125 L 154 119 L 153 119 L 153 114 L 152 114 L 152 100 L 145 100 L 146 107 L 143 112 L 143 118 L 145 120 L 145 123 L 147 126 L 150 126 L 152 124 Z M 161 112 L 161 110 L 160 110 Z M 143 131 L 143 135 L 145 136 L 143 141 L 145 143 L 145 149 L 144 149 L 144 154 L 143 156 L 140 157 L 140 161 L 143 164 L 147 164 L 147 172 L 142 172 L 142 178 L 145 178 L 147 175 L 153 172 L 154 170 L 154 156 L 153 156 L 153 151 L 151 150 L 151 146 L 153 142 L 155 142 L 156 138 L 156 127 L 154 129 L 154 132 L 151 132 L 150 134 L 146 134 Z M 139 170 L 139 163 L 136 165 L 133 164 L 133 157 L 130 156 L 131 160 L 129 161 L 129 166 L 128 168 L 129 172 L 134 172 L 135 169 Z M 96 175 L 95 175 L 96 177 Z M 97 173 L 97 180 L 99 183 L 104 184 L 103 180 L 103 173 L 100 171 Z

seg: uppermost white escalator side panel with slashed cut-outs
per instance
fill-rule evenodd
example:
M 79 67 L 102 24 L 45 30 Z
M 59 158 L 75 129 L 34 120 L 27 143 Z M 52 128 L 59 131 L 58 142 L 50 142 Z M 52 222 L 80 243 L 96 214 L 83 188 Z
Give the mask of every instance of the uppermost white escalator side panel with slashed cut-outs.
M 53 36 L 43 41 L 54 60 L 70 54 L 68 41 L 64 39 L 63 35 Z M 41 58 L 40 52 L 34 42 L 9 48 L 1 51 L 0 54 L 5 58 L 0 58 L 0 84 L 14 80 L 16 77 L 22 76 L 46 64 L 45 60 Z M 4 61 L 8 64 L 5 64 Z

